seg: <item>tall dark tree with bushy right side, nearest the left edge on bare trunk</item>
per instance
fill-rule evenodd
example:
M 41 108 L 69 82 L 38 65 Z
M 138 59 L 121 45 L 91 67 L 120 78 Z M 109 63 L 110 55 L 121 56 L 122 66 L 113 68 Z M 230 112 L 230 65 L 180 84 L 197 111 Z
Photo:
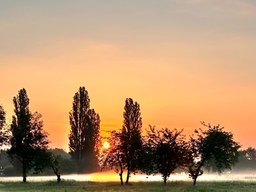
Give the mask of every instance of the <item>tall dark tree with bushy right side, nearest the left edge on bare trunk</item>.
M 22 164 L 23 182 L 26 182 L 28 170 L 35 168 L 38 154 L 47 149 L 49 141 L 43 129 L 42 115 L 29 111 L 29 99 L 26 90 L 19 90 L 13 97 L 14 113 L 10 126 L 10 146 L 8 155 L 17 158 Z

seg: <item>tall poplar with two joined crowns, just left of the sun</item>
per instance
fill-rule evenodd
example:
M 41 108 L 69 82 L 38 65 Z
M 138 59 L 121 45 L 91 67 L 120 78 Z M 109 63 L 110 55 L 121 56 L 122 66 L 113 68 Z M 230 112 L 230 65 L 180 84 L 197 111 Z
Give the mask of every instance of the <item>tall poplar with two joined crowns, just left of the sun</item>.
M 72 159 L 78 164 L 78 172 L 92 171 L 97 167 L 99 154 L 100 117 L 94 109 L 90 109 L 90 99 L 84 86 L 74 95 L 69 119 L 71 130 L 68 138 Z

